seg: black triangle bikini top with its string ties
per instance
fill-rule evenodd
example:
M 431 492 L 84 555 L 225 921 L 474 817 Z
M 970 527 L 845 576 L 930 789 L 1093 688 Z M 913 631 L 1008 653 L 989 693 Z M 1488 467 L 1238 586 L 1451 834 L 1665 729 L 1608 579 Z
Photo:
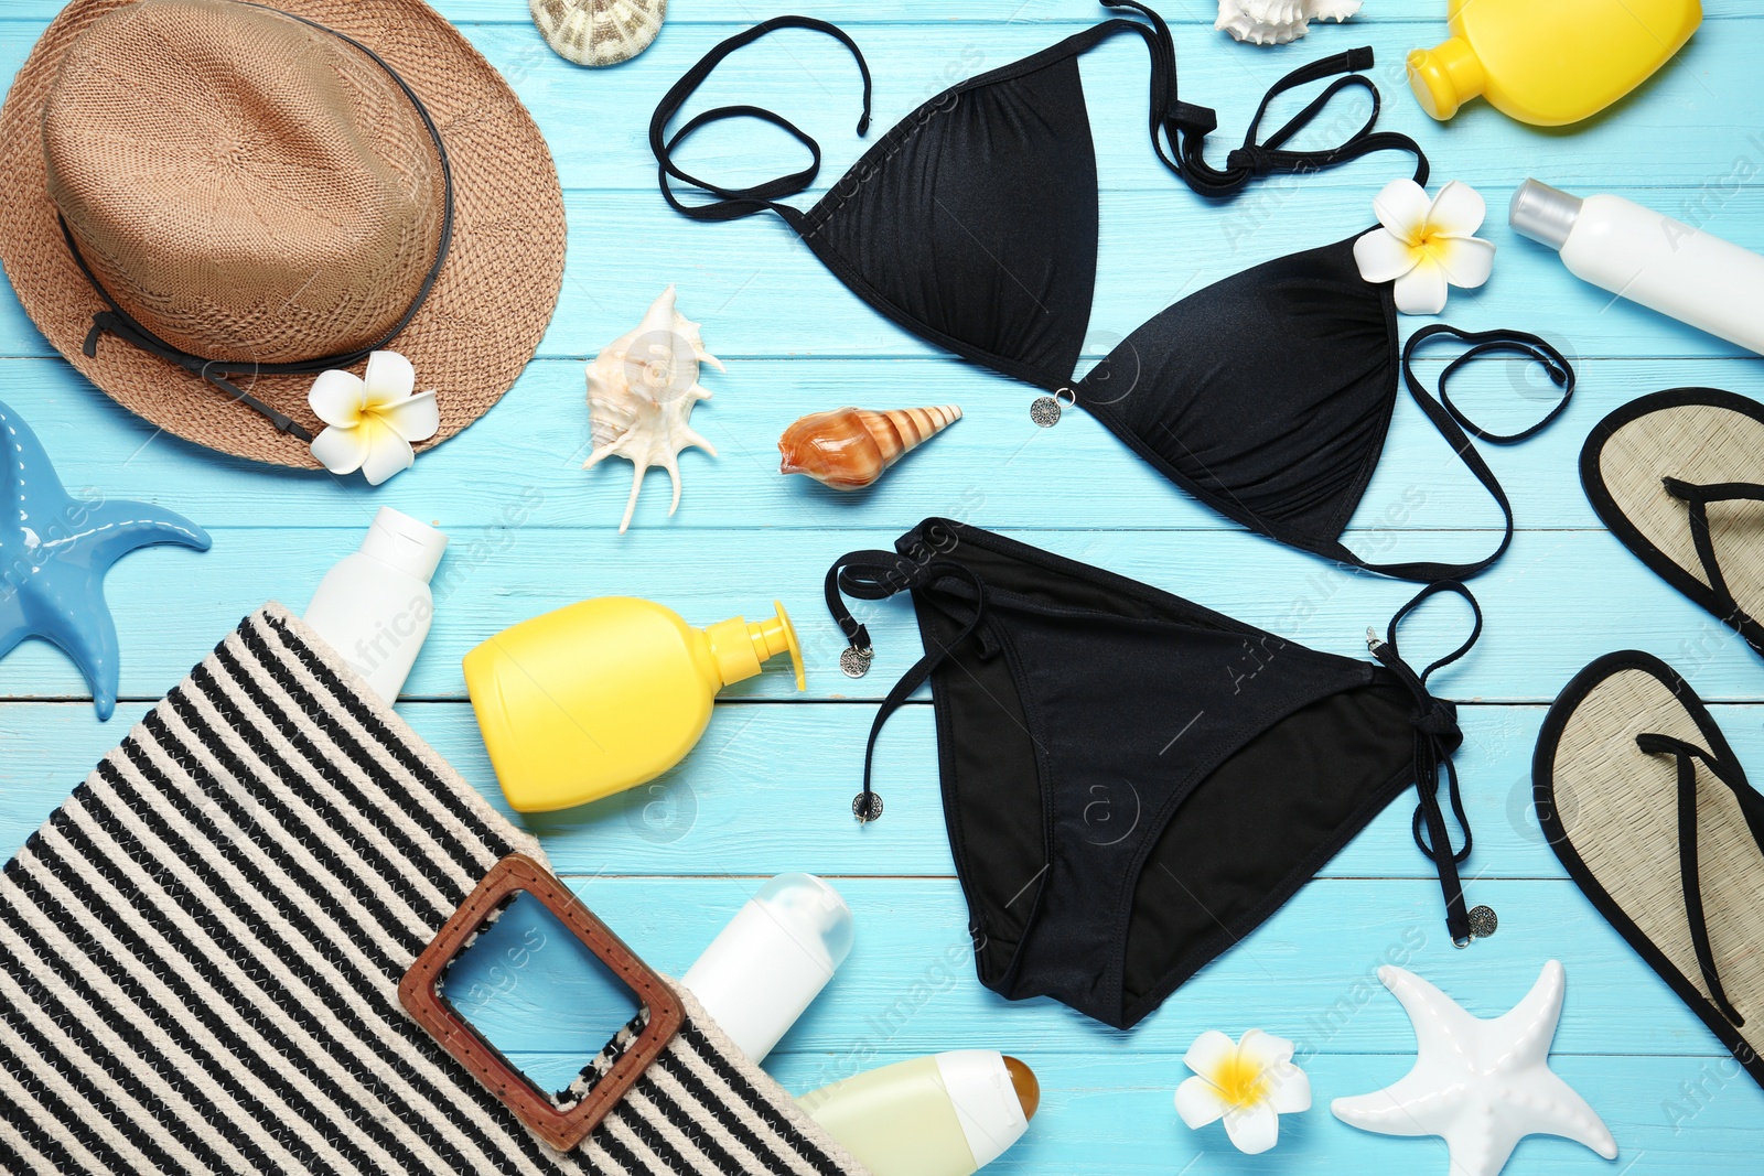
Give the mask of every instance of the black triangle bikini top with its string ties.
M 1275 83 L 1244 145 L 1224 167 L 1214 167 L 1205 146 L 1217 120 L 1177 97 L 1175 42 L 1162 18 L 1136 0 L 1102 4 L 1145 21 L 1106 19 L 946 90 L 896 123 L 806 212 L 780 201 L 813 183 L 820 145 L 781 115 L 723 106 L 667 136 L 681 106 L 725 56 L 776 28 L 822 32 L 850 49 L 863 74 L 857 134 L 868 132 L 870 69 L 843 30 L 804 16 L 755 25 L 711 49 L 656 108 L 649 145 L 662 194 L 695 220 L 778 213 L 880 314 L 938 347 L 1083 406 L 1166 478 L 1254 531 L 1411 580 L 1464 578 L 1487 568 L 1512 540 L 1512 508 L 1459 425 L 1489 441 L 1508 437 L 1484 434 L 1450 402 L 1436 402 L 1408 372 L 1408 353 L 1401 353 L 1401 368 L 1411 395 L 1501 506 L 1506 538 L 1471 564 L 1369 564 L 1341 543 L 1383 450 L 1399 370 L 1392 284 L 1360 277 L 1353 238 L 1191 294 L 1074 379 L 1090 326 L 1099 226 L 1095 145 L 1078 56 L 1099 42 L 1127 32 L 1145 41 L 1152 146 L 1201 196 L 1228 197 L 1272 173 L 1311 173 L 1383 150 L 1415 155 L 1415 180 L 1427 180 L 1427 159 L 1413 139 L 1374 130 L 1378 88 L 1353 72 L 1372 65 L 1371 49 L 1337 53 Z M 1258 139 L 1274 97 L 1337 74 L 1344 76 Z M 1291 150 L 1288 143 L 1348 88 L 1371 95 L 1365 122 L 1334 148 Z M 681 141 L 725 118 L 783 129 L 808 148 L 810 164 L 741 189 L 681 169 L 672 159 Z M 714 199 L 686 205 L 674 182 Z M 1522 331 L 1466 335 L 1436 324 L 1416 333 L 1409 349 L 1439 331 L 1473 344 L 1461 360 L 1510 351 L 1544 363 L 1566 404 L 1573 374 L 1542 339 Z M 1559 411 L 1510 439 L 1536 432 Z

